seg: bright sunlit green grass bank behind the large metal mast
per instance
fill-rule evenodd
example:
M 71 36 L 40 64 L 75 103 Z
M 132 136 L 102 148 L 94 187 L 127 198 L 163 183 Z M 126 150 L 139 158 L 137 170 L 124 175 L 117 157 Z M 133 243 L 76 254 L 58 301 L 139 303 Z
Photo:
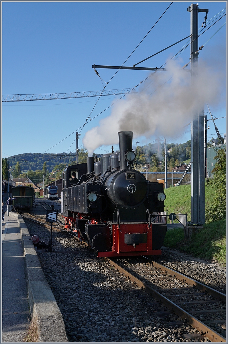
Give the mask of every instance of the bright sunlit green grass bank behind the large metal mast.
M 180 185 L 169 187 L 165 190 L 165 209 L 168 214 L 182 213 L 188 215 L 188 221 L 191 221 L 191 185 Z M 214 191 L 212 186 L 205 185 L 205 203 L 206 207 L 213 203 Z

